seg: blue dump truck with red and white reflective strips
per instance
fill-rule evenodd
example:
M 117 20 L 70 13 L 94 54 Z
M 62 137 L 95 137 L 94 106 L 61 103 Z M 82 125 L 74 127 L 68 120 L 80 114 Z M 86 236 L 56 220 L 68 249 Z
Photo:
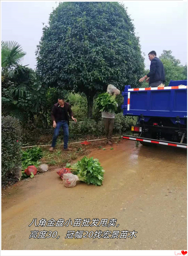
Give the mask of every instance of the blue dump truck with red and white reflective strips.
M 138 117 L 133 136 L 123 139 L 187 148 L 187 80 L 170 81 L 168 87 L 125 85 L 122 95 L 123 115 Z

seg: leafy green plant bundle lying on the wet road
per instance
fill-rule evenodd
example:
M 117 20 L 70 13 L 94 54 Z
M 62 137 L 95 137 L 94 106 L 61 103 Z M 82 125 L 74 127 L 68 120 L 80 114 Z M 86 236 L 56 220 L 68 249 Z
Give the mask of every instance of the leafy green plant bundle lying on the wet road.
M 101 186 L 104 176 L 103 167 L 101 167 L 98 159 L 87 158 L 84 156 L 80 161 L 74 165 L 67 164 L 66 167 L 71 168 L 71 172 L 78 176 L 79 180 L 87 184 L 94 184 Z

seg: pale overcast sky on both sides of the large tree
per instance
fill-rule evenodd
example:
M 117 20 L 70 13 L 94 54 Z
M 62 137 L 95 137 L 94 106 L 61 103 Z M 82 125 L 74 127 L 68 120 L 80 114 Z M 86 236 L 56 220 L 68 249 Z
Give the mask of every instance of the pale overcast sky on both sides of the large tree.
M 128 7 L 141 50 L 151 50 L 159 57 L 162 50 L 172 50 L 173 56 L 187 63 L 187 2 L 186 1 L 121 1 Z M 58 1 L 57 1 L 58 3 Z M 2 40 L 17 41 L 27 53 L 23 65 L 35 68 L 35 50 L 42 36 L 42 22 L 48 24 L 55 1 L 1 2 Z

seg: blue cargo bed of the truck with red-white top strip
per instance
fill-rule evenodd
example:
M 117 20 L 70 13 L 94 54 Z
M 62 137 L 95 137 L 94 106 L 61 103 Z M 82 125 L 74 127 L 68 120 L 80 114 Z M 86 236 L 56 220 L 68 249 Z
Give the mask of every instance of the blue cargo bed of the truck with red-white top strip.
M 184 86 L 179 86 L 184 85 Z M 171 81 L 168 87 L 132 88 L 126 85 L 123 115 L 187 117 L 187 81 Z

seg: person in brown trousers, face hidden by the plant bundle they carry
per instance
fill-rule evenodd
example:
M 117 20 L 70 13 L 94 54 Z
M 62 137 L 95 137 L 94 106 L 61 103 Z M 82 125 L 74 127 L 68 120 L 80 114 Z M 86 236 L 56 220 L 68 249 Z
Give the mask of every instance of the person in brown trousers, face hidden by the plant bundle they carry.
M 107 93 L 109 93 L 110 95 L 114 95 L 114 98 L 115 98 L 116 95 L 120 94 L 120 90 L 118 90 L 114 85 L 109 84 L 107 87 Z M 116 107 L 118 107 L 117 103 L 116 103 Z M 114 111 L 102 111 L 102 118 L 104 122 L 107 143 L 109 145 L 112 145 L 112 132 L 114 128 L 114 119 L 115 119 Z

